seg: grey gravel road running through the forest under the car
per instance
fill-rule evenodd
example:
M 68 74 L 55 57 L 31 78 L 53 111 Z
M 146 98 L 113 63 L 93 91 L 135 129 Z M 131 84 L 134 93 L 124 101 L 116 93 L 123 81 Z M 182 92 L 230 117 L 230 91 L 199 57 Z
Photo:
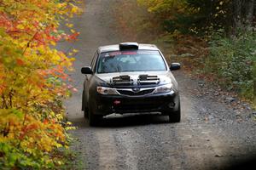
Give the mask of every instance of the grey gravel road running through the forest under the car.
M 168 117 L 108 116 L 99 127 L 89 127 L 81 111 L 84 76 L 80 68 L 90 65 L 96 48 L 129 41 L 115 31 L 112 13 L 117 0 L 86 0 L 84 14 L 73 20 L 79 41 L 60 48 L 79 49 L 70 75 L 79 89 L 66 102 L 67 117 L 78 127 L 72 133 L 78 142 L 84 169 L 224 169 L 256 155 L 256 122 L 252 111 L 234 110 L 218 100 L 213 91 L 202 94 L 201 83 L 181 71 L 179 83 L 182 121 Z M 138 41 L 139 42 L 139 41 Z M 205 90 L 205 88 L 204 88 Z M 255 158 L 255 157 L 254 157 Z

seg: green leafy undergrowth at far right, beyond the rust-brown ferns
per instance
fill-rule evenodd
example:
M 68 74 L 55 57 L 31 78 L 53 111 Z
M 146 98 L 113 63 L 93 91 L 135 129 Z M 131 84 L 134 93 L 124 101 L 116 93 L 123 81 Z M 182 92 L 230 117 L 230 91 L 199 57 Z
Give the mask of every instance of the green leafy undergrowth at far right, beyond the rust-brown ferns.
M 253 101 L 255 94 L 256 32 L 242 31 L 225 37 L 215 33 L 209 42 L 210 53 L 205 59 L 204 72 L 214 75 L 218 83 Z

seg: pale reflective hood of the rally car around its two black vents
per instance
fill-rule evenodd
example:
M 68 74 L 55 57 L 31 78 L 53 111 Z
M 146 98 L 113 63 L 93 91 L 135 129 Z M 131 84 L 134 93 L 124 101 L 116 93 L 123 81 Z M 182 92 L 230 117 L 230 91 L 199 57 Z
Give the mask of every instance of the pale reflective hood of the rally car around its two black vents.
M 138 79 L 141 75 L 148 75 L 152 77 L 157 77 L 159 82 L 157 85 L 167 84 L 174 82 L 176 83 L 174 77 L 172 76 L 171 71 L 131 71 L 131 72 L 114 72 L 114 73 L 101 73 L 96 74 L 96 77 L 100 78 L 102 81 L 107 82 L 108 85 L 113 85 L 113 77 L 125 77 L 129 76 L 133 83 L 132 85 L 126 86 L 135 86 L 137 85 Z M 142 86 L 142 85 L 140 85 Z M 147 84 L 144 86 L 156 86 L 156 84 Z

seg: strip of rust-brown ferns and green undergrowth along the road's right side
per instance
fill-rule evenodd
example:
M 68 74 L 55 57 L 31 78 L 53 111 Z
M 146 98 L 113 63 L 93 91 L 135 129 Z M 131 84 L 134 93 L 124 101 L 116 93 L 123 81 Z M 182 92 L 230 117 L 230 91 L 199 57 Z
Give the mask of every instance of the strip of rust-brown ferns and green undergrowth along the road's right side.
M 169 54 L 194 76 L 256 105 L 255 40 L 254 31 L 242 31 L 232 37 L 216 31 L 208 41 L 202 37 L 178 35 L 172 37 L 175 45 Z

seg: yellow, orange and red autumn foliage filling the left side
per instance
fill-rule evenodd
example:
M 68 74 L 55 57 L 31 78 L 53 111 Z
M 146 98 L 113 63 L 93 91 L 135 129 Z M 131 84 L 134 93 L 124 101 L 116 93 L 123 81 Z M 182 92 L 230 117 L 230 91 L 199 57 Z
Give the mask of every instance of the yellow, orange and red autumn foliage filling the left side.
M 70 0 L 0 1 L 0 169 L 60 169 L 66 164 L 73 58 L 55 49 L 79 35 L 59 29 L 78 14 Z

